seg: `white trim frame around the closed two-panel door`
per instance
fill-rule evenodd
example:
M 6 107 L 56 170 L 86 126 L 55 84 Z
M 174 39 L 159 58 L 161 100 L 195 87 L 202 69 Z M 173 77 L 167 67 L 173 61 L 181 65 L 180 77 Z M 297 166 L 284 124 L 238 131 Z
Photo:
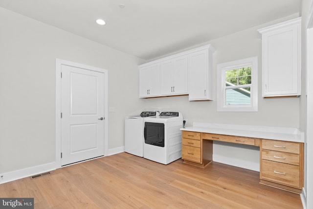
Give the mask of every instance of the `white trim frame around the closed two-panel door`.
M 67 60 L 55 60 L 55 165 L 56 168 L 61 166 L 61 70 L 62 65 L 73 66 L 86 70 L 93 70 L 104 73 L 104 156 L 108 154 L 109 145 L 109 114 L 108 114 L 108 70 L 92 67 L 80 63 L 74 63 Z M 79 162 L 78 162 L 79 163 Z M 75 164 L 75 163 L 73 163 Z

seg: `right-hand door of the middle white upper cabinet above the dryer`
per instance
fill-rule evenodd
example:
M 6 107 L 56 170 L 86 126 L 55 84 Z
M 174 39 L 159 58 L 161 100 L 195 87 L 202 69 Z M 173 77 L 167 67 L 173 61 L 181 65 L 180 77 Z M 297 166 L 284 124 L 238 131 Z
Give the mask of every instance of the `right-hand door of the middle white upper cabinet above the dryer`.
M 187 56 L 179 56 L 173 61 L 173 93 L 187 94 L 188 93 L 188 66 Z

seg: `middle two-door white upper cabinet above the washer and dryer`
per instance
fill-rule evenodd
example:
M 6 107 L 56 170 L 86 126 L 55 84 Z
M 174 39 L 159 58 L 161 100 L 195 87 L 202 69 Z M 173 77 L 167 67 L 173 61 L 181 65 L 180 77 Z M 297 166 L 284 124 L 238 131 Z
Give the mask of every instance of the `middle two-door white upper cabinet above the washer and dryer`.
M 161 95 L 188 94 L 187 56 L 181 55 L 160 63 Z

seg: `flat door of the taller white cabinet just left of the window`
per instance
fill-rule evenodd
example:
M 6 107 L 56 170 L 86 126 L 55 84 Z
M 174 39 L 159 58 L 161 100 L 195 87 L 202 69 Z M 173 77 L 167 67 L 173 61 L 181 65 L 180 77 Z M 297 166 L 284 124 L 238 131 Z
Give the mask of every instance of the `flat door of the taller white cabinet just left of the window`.
M 189 54 L 188 73 L 189 100 L 207 99 L 208 50 Z

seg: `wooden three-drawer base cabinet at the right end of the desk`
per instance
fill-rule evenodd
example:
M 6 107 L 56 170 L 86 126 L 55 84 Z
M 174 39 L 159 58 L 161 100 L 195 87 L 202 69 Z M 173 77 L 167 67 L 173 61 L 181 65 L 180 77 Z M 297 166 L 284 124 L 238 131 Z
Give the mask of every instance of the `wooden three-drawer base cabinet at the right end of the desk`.
M 301 193 L 303 143 L 262 139 L 260 183 Z

